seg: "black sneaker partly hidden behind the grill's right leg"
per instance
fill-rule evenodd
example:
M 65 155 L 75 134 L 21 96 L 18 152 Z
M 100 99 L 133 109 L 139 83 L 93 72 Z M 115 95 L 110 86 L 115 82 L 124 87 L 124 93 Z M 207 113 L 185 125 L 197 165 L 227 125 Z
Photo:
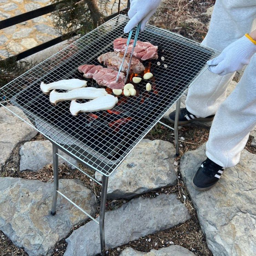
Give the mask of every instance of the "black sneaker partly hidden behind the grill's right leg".
M 191 114 L 190 112 L 187 111 L 187 109 L 184 107 L 183 109 L 180 110 L 180 115 L 179 115 L 179 121 L 178 124 L 187 124 L 192 121 L 213 121 L 214 115 L 209 115 L 207 117 L 199 117 L 196 115 Z M 175 121 L 175 111 L 169 114 L 167 117 L 167 121 L 170 123 L 174 124 Z

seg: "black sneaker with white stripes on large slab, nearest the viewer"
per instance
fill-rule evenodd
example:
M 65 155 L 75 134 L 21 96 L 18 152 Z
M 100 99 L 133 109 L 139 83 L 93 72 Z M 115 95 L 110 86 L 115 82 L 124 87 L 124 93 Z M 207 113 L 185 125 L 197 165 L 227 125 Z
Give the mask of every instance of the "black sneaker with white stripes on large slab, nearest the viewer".
M 218 182 L 224 169 L 207 157 L 193 177 L 193 186 L 197 190 L 209 190 Z

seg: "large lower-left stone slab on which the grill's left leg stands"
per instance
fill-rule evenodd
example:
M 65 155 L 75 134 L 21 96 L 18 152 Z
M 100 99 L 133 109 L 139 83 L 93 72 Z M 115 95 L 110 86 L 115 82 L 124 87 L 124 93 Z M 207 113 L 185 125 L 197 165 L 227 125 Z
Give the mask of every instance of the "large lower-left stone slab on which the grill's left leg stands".
M 91 215 L 94 194 L 78 180 L 61 179 L 60 191 Z M 68 235 L 73 225 L 88 219 L 79 209 L 59 196 L 52 216 L 53 183 L 0 177 L 0 230 L 29 256 L 51 255 L 55 244 Z M 1 252 L 0 252 L 1 254 Z

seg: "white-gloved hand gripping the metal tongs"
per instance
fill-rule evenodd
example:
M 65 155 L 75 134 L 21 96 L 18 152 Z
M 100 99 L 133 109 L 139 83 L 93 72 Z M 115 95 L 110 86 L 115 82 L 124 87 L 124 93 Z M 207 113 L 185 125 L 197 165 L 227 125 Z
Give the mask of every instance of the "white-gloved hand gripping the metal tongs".
M 131 19 L 124 28 L 124 33 L 129 33 L 141 21 L 141 29 L 143 31 L 146 22 L 155 13 L 161 0 L 131 0 L 128 16 Z

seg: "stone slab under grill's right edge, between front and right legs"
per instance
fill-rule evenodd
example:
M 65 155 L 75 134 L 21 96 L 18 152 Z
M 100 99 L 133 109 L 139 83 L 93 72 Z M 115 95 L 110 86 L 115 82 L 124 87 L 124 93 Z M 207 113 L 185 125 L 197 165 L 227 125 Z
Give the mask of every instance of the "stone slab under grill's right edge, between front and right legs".
M 142 140 L 109 177 L 108 198 L 131 198 L 157 188 L 175 185 L 176 151 L 172 143 Z M 101 181 L 102 175 L 95 173 Z

